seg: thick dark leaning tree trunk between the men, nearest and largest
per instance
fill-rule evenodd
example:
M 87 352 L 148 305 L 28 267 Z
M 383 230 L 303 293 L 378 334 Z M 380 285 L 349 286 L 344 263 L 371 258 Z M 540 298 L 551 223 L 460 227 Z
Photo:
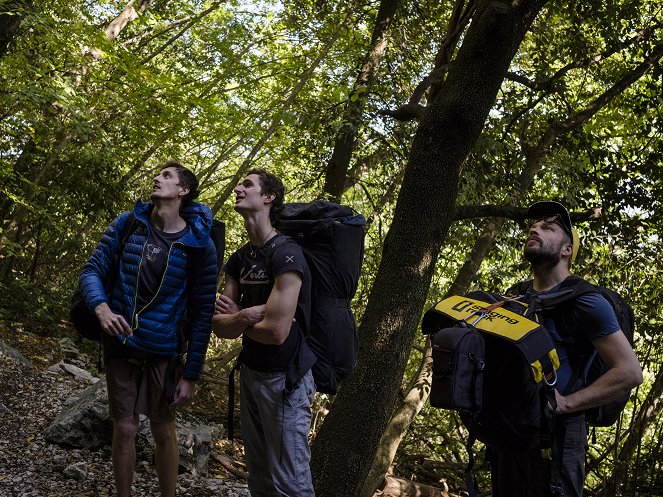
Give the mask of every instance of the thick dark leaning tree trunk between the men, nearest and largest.
M 313 445 L 311 467 L 320 497 L 360 495 L 453 220 L 461 165 L 544 3 L 481 2 L 442 91 L 422 118 L 360 327 L 359 365 Z

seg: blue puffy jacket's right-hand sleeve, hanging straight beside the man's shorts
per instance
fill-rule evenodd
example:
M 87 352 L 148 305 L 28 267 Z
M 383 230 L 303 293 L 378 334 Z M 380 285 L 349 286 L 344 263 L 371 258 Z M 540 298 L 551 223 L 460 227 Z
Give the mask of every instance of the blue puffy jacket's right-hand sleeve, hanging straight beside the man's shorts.
M 191 327 L 187 350 L 187 361 L 182 376 L 189 380 L 198 380 L 203 370 L 207 346 L 212 332 L 212 315 L 216 300 L 216 250 L 209 245 L 196 253 L 196 263 L 188 277 Z

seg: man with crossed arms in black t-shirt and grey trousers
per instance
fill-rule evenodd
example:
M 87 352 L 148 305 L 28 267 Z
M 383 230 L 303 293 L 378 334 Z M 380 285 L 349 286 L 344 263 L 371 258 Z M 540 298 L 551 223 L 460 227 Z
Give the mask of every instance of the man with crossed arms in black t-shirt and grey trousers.
M 315 356 L 308 333 L 311 277 L 301 248 L 277 233 L 281 180 L 251 170 L 234 190 L 249 242 L 225 267 L 212 327 L 242 337 L 241 428 L 253 497 L 313 497 L 308 431 Z M 295 375 L 293 371 L 302 371 Z

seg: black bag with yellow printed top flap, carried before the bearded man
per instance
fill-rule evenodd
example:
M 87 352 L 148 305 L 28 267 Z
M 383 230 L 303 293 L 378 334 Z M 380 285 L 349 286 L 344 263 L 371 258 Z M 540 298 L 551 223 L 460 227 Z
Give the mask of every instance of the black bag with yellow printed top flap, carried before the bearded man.
M 518 300 L 471 292 L 438 302 L 422 321 L 433 348 L 430 404 L 458 411 L 468 430 L 470 496 L 475 440 L 505 452 L 550 446 L 559 358 L 548 331 L 526 316 Z

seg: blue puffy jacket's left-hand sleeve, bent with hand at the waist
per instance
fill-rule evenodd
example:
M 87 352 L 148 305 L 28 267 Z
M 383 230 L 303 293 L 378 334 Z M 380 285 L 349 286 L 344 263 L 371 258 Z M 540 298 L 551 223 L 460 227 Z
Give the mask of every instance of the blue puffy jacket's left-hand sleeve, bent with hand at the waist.
M 121 233 L 126 227 L 129 212 L 124 212 L 116 217 L 106 228 L 97 247 L 87 260 L 81 271 L 79 282 L 85 303 L 94 310 L 99 304 L 108 302 L 104 283 L 108 280 L 109 272 L 113 267 L 115 253 L 117 252 Z M 118 268 L 115 268 L 118 270 Z

